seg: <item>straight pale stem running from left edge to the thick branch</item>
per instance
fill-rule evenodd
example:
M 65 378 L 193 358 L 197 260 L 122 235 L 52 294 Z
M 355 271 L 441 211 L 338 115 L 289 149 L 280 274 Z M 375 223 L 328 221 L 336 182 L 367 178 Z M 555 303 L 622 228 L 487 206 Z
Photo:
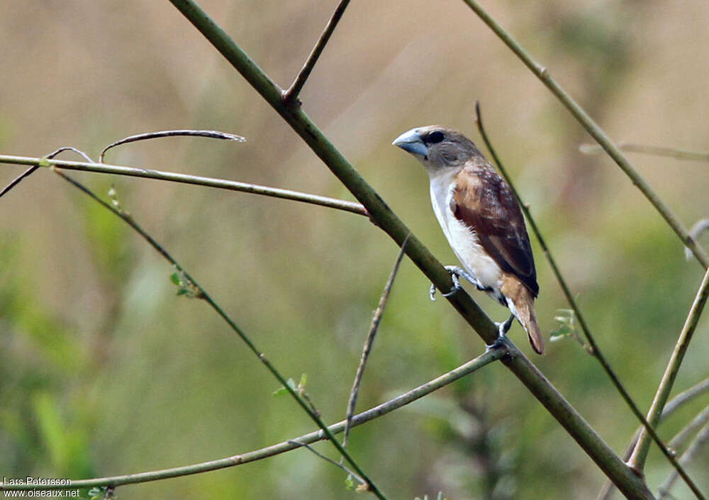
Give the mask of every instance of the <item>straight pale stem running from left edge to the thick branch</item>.
M 60 167 L 65 170 L 81 170 L 84 172 L 98 172 L 101 174 L 126 175 L 129 177 L 145 177 L 146 179 L 156 179 L 169 182 L 180 182 L 182 184 L 194 184 L 196 186 L 216 187 L 218 189 L 228 189 L 230 191 L 242 191 L 251 194 L 261 194 L 274 198 L 301 201 L 303 203 L 320 205 L 329 209 L 337 209 L 362 216 L 369 216 L 362 204 L 354 201 L 345 201 L 328 196 L 317 194 L 301 193 L 290 191 L 289 189 L 279 189 L 277 187 L 259 186 L 258 184 L 248 184 L 246 182 L 236 182 L 226 179 L 216 179 L 214 177 L 200 177 L 199 175 L 177 174 L 175 172 L 164 172 L 162 170 L 151 170 L 140 167 L 123 167 L 119 165 L 106 165 L 105 163 L 89 162 L 69 162 L 66 160 L 51 160 L 47 157 L 36 158 L 26 156 L 0 155 L 0 163 L 14 165 L 34 165 L 35 167 Z

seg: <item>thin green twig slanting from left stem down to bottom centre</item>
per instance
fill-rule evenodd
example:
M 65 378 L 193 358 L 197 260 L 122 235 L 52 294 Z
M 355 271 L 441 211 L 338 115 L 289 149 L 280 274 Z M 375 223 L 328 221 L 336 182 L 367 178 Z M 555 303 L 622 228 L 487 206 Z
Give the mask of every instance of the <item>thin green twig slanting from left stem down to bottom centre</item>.
M 384 496 L 384 494 L 382 494 L 381 491 L 379 491 L 379 488 L 377 488 L 376 485 L 369 479 L 369 477 L 367 477 L 367 474 L 364 474 L 364 472 L 362 471 L 362 469 L 359 467 L 359 465 L 357 465 L 357 462 L 354 461 L 354 459 L 353 459 L 352 456 L 347 452 L 347 450 L 345 450 L 345 448 L 342 448 L 342 445 L 340 445 L 340 442 L 335 439 L 335 436 L 333 436 L 332 433 L 330 433 L 330 430 L 328 430 L 327 426 L 325 426 L 325 423 L 323 423 L 323 421 L 322 421 L 322 419 L 320 418 L 320 416 L 318 416 L 318 414 L 317 414 L 315 411 L 313 411 L 313 410 L 311 409 L 311 407 L 310 407 L 310 405 L 308 404 L 308 402 L 305 401 L 305 400 L 296 392 L 296 390 L 288 384 L 288 382 L 286 382 L 286 379 L 281 375 L 281 373 L 280 373 L 278 370 L 276 370 L 276 367 L 274 367 L 274 365 L 272 365 L 271 362 L 269 362 L 269 360 L 267 360 L 266 355 L 264 355 L 263 352 L 261 352 L 260 350 L 258 350 L 258 349 L 256 348 L 256 346 L 254 345 L 254 343 L 252 343 L 252 341 L 251 341 L 250 338 L 246 335 L 246 333 L 245 333 L 241 328 L 239 328 L 239 326 L 237 326 L 237 324 L 233 321 L 232 318 L 230 318 L 230 316 L 228 316 L 228 314 L 221 308 L 221 306 L 219 306 L 219 305 L 211 298 L 211 296 L 210 296 L 209 294 L 207 294 L 206 290 L 203 289 L 203 288 L 194 280 L 194 278 L 191 277 L 191 276 L 189 275 L 189 273 L 186 272 L 186 271 L 184 270 L 184 268 L 183 268 L 181 265 L 179 265 L 179 263 L 178 263 L 176 260 L 174 260 L 174 258 L 172 257 L 172 255 L 169 255 L 169 253 L 167 252 L 167 250 L 164 250 L 164 248 L 162 248 L 162 246 L 161 246 L 159 243 L 157 243 L 157 241 L 155 241 L 155 240 L 152 238 L 152 236 L 150 236 L 149 234 L 147 234 L 147 233 L 145 232 L 145 230 L 143 230 L 143 228 L 141 228 L 140 226 L 138 226 L 138 223 L 135 223 L 135 221 L 133 220 L 133 218 L 130 217 L 127 213 L 125 213 L 125 212 L 123 212 L 123 211 L 119 211 L 118 209 L 115 209 L 113 206 L 107 204 L 105 201 L 103 201 L 103 200 L 100 199 L 98 196 L 96 196 L 96 194 L 94 194 L 93 191 L 91 191 L 91 190 L 89 190 L 88 188 L 84 187 L 84 185 L 82 185 L 81 183 L 79 183 L 79 182 L 77 182 L 76 180 L 72 179 L 71 177 L 67 176 L 67 175 L 64 174 L 63 172 L 60 172 L 60 170 L 55 169 L 55 172 L 56 172 L 57 174 L 59 174 L 59 175 L 62 177 L 62 179 L 65 179 L 67 182 L 69 182 L 70 184 L 74 185 L 74 187 L 77 187 L 77 188 L 80 189 L 81 191 L 84 191 L 84 193 L 88 194 L 89 196 L 91 196 L 91 198 L 93 198 L 94 200 L 98 201 L 99 204 L 103 205 L 104 207 L 106 207 L 106 209 L 110 210 L 111 212 L 113 212 L 114 214 L 116 214 L 116 216 L 118 216 L 118 217 L 120 217 L 121 219 L 123 219 L 123 221 L 125 221 L 125 223 L 127 223 L 131 228 L 133 228 L 133 229 L 134 229 L 135 231 L 137 231 L 141 236 L 143 236 L 143 238 L 145 238 L 145 240 L 147 240 L 147 242 L 150 243 L 150 245 L 152 245 L 152 247 L 155 248 L 155 250 L 157 250 L 158 252 L 160 252 L 160 255 L 162 255 L 165 259 L 167 259 L 167 260 L 177 269 L 177 271 L 178 271 L 180 274 L 182 274 L 182 276 L 184 276 L 184 279 L 186 279 L 187 281 L 189 281 L 189 284 L 191 285 L 191 287 L 194 287 L 196 290 L 199 291 L 199 298 L 205 300 L 205 301 L 212 307 L 212 309 L 214 309 L 214 311 L 216 311 L 216 313 L 218 313 L 218 315 L 221 316 L 221 318 L 223 318 L 223 320 L 226 321 L 226 323 L 228 323 L 228 325 L 231 327 L 231 329 L 232 329 L 237 335 L 239 335 L 239 337 L 244 341 L 244 343 L 248 346 L 248 348 L 249 348 L 255 355 L 257 355 L 257 357 L 259 358 L 259 360 L 261 360 L 261 362 L 267 367 L 267 369 L 269 370 L 269 372 L 271 372 L 271 373 L 273 374 L 273 376 L 276 377 L 276 378 L 278 379 L 278 381 L 283 385 L 283 387 L 286 388 L 286 391 L 288 391 L 288 392 L 291 394 L 291 396 L 296 400 L 296 402 L 298 403 L 298 405 L 300 405 L 301 408 L 302 408 L 303 410 L 305 410 L 306 413 L 308 413 L 308 415 L 311 417 L 311 419 L 320 427 L 320 429 L 323 430 L 323 432 L 325 433 L 325 435 L 327 435 L 328 440 L 330 440 L 330 441 L 333 443 L 333 445 L 335 446 L 335 448 L 337 449 L 337 451 L 340 452 L 340 454 L 345 457 L 345 460 L 347 460 L 347 462 L 350 463 L 350 465 L 354 468 L 354 470 L 357 471 L 357 474 L 359 474 L 359 476 L 361 476 L 361 477 L 365 480 L 365 482 L 366 482 L 366 484 L 367 484 L 367 488 L 368 488 L 370 491 L 372 491 L 372 493 L 374 493 L 374 494 L 377 496 L 377 498 L 379 498 L 380 500 L 386 500 L 386 496 Z

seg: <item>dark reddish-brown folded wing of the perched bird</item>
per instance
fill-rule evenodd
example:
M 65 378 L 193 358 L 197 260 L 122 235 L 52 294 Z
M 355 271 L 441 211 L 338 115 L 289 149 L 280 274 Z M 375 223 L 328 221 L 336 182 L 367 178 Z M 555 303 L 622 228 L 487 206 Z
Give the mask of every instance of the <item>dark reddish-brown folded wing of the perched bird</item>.
M 480 244 L 493 260 L 503 270 L 515 274 L 536 297 L 537 272 L 520 206 L 491 165 L 475 163 L 470 161 L 458 174 L 451 210 L 477 233 Z

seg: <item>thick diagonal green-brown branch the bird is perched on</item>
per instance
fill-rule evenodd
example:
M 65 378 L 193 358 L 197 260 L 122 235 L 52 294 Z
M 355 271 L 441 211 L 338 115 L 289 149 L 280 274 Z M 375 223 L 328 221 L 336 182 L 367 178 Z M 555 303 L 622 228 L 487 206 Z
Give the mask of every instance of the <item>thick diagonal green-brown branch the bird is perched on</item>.
M 357 170 L 354 170 L 350 162 L 342 156 L 303 109 L 286 106 L 281 99 L 280 87 L 194 1 L 170 1 L 303 138 L 330 171 L 364 205 L 372 221 L 398 245 L 401 245 L 411 231 Z M 450 274 L 414 235 L 411 235 L 406 246 L 406 254 L 438 289 L 452 288 Z M 467 292 L 457 291 L 448 297 L 448 301 L 487 344 L 496 340 L 498 330 L 495 324 L 481 311 Z M 642 478 L 620 460 L 620 457 L 549 383 L 537 367 L 512 343 L 506 341 L 506 345 L 509 345 L 511 350 L 511 354 L 503 358 L 506 367 L 525 384 L 598 467 L 613 480 L 618 489 L 629 499 L 652 499 L 652 494 Z

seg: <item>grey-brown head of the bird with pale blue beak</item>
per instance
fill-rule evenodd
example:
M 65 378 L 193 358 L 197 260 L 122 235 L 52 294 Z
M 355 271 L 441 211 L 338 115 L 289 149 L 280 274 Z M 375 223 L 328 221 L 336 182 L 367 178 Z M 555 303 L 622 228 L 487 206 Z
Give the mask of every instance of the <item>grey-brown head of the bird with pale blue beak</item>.
M 459 170 L 468 160 L 481 154 L 465 135 L 440 125 L 412 128 L 392 144 L 418 158 L 429 174 Z

